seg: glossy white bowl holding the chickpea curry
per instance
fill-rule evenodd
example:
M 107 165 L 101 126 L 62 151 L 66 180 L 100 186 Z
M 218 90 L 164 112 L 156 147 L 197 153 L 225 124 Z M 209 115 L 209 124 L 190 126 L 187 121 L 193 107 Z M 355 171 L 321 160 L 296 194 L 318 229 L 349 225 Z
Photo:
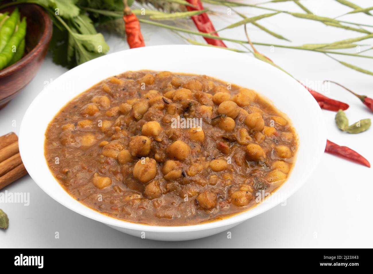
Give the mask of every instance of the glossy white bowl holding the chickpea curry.
M 54 115 L 72 98 L 109 76 L 127 70 L 169 70 L 205 74 L 269 98 L 291 119 L 299 135 L 297 159 L 288 180 L 265 202 L 224 220 L 193 226 L 148 226 L 121 221 L 85 207 L 54 179 L 44 158 L 44 133 Z M 142 47 L 109 54 L 69 70 L 43 89 L 22 120 L 19 151 L 35 182 L 60 204 L 119 231 L 153 240 L 191 240 L 223 232 L 291 196 L 315 169 L 324 152 L 326 131 L 319 105 L 297 81 L 275 67 L 218 48 L 194 45 Z M 275 199 L 273 199 L 275 197 Z

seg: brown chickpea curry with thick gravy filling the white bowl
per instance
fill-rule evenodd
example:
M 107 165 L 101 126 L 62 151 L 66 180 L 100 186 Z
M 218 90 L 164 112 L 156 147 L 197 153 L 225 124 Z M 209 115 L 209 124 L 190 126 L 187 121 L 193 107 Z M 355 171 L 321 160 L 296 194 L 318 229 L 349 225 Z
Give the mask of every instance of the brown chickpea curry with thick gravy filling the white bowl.
M 157 226 L 220 220 L 289 175 L 297 135 L 252 89 L 128 71 L 74 98 L 46 130 L 60 185 L 102 214 Z

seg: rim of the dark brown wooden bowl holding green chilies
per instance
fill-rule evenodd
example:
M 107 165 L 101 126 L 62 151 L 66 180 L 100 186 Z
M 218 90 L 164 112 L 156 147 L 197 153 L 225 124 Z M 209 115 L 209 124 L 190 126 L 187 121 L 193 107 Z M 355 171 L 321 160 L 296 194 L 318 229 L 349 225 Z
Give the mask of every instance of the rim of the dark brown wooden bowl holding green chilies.
M 45 44 L 48 44 L 48 42 L 50 41 L 50 39 L 52 37 L 53 27 L 52 27 L 52 20 L 50 19 L 49 15 L 37 4 L 19 3 L 19 4 L 15 4 L 14 6 L 16 7 L 16 6 L 22 6 L 22 5 L 32 6 L 38 13 L 40 13 L 40 15 L 43 18 L 44 25 L 45 25 L 43 35 L 41 36 L 39 42 L 35 45 L 35 47 L 32 48 L 31 51 L 29 51 L 29 53 L 27 53 L 25 56 L 23 56 L 16 63 L 10 65 L 9 67 L 6 67 L 6 68 L 0 70 L 0 78 L 14 73 L 16 70 L 20 69 L 25 64 L 31 62 L 31 60 L 36 57 L 35 52 L 39 51 L 40 48 L 43 47 Z M 10 94 L 7 97 L 12 96 L 12 95 L 13 94 Z M 5 99 L 7 97 L 4 97 L 3 99 Z M 1 99 L 1 100 L 3 100 L 3 99 Z

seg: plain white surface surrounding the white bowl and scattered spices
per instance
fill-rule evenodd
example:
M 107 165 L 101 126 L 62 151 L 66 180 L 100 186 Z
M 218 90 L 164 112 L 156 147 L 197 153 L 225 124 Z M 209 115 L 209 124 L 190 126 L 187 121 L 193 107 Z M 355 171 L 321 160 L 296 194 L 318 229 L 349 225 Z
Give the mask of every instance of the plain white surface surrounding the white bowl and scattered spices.
M 352 1 L 362 7 L 370 7 L 373 3 L 371 0 Z M 255 3 L 257 1 L 247 0 L 244 2 Z M 351 11 L 350 8 L 333 0 L 302 0 L 301 3 L 315 14 L 331 18 Z M 226 15 L 224 8 L 208 4 L 205 6 L 217 11 L 215 16 L 210 16 L 216 29 L 241 20 L 234 13 Z M 266 4 L 265 6 L 302 12 L 291 1 L 289 3 Z M 264 10 L 251 7 L 236 9 L 249 17 L 267 13 Z M 373 16 L 363 13 L 347 15 L 340 19 L 373 25 Z M 325 26 L 321 22 L 294 18 L 286 14 L 266 18 L 258 23 L 292 41 L 278 40 L 255 26 L 248 25 L 252 41 L 269 44 L 325 43 L 364 35 L 359 32 Z M 191 29 L 194 29 L 192 23 L 189 22 L 189 25 Z M 185 43 L 182 38 L 169 30 L 145 24 L 142 24 L 141 27 L 146 45 Z M 373 28 L 367 27 L 367 29 L 373 31 Z M 220 35 L 245 40 L 243 27 L 222 31 Z M 105 34 L 105 38 L 110 46 L 109 53 L 128 48 L 125 41 L 113 34 Z M 188 38 L 203 42 L 200 37 L 188 36 Z M 227 42 L 226 44 L 228 47 L 239 48 L 234 43 Z M 358 44 L 373 44 L 373 39 L 361 41 Z M 362 50 L 365 48 L 367 47 L 361 47 Z M 270 47 L 264 46 L 258 46 L 257 49 L 299 80 L 318 85 L 323 80 L 329 79 L 340 82 L 359 94 L 373 97 L 372 76 L 344 67 L 322 53 L 279 47 L 275 47 L 272 52 Z M 352 48 L 347 51 L 354 53 L 356 49 Z M 366 54 L 372 53 L 373 50 Z M 373 70 L 372 59 L 335 54 L 333 57 Z M 197 65 L 203 65 L 203 60 L 201 60 L 201 64 Z M 66 72 L 65 68 L 52 63 L 51 57 L 47 56 L 30 84 L 5 108 L 0 110 L 0 135 L 12 131 L 18 134 L 23 114 L 28 105 L 48 81 L 56 79 L 64 72 Z M 250 78 L 250 75 L 245 75 L 245 72 L 242 71 L 242 77 Z M 100 80 L 97 79 L 97 82 Z M 278 92 L 283 91 L 284 88 L 279 87 Z M 373 118 L 373 112 L 369 111 L 358 98 L 338 86 L 330 85 L 327 96 L 350 104 L 346 114 L 351 123 L 364 118 Z M 358 135 L 349 135 L 336 128 L 334 112 L 323 110 L 323 113 L 327 125 L 327 138 L 339 145 L 346 145 L 356 150 L 364 155 L 370 163 L 373 163 L 373 129 Z M 40 115 L 43 115 L 42 109 Z M 14 121 L 16 126 L 12 126 Z M 27 175 L 1 190 L 2 192 L 5 190 L 27 192 L 30 195 L 30 204 L 29 206 L 0 204 L 0 208 L 8 214 L 10 219 L 9 229 L 0 230 L 0 248 L 372 248 L 372 175 L 372 169 L 324 154 L 317 170 L 307 183 L 287 200 L 285 206 L 278 205 L 272 210 L 234 227 L 230 230 L 232 239 L 227 239 L 227 233 L 223 232 L 187 242 L 157 242 L 118 232 L 55 202 Z M 55 239 L 56 232 L 59 232 L 59 239 Z

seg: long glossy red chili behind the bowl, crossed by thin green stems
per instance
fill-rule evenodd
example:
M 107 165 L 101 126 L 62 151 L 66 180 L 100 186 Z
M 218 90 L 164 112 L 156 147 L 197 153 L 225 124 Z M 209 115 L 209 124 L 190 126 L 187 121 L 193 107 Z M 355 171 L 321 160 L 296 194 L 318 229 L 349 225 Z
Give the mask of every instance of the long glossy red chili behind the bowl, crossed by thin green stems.
M 189 4 L 192 4 L 194 6 L 194 7 L 186 6 L 186 9 L 188 9 L 188 11 L 203 10 L 204 9 L 200 0 L 186 0 L 186 1 Z M 210 33 L 211 32 L 210 33 L 211 35 L 219 36 L 215 32 L 214 25 L 210 21 L 210 18 L 207 15 L 206 12 L 201 13 L 199 15 L 193 15 L 192 20 L 194 22 L 194 25 L 197 27 L 197 29 L 200 32 L 204 32 L 204 33 Z M 207 37 L 204 37 L 204 39 L 206 40 L 207 44 L 216 45 L 216 46 L 225 47 L 225 48 L 227 47 L 222 40 L 207 38 Z

